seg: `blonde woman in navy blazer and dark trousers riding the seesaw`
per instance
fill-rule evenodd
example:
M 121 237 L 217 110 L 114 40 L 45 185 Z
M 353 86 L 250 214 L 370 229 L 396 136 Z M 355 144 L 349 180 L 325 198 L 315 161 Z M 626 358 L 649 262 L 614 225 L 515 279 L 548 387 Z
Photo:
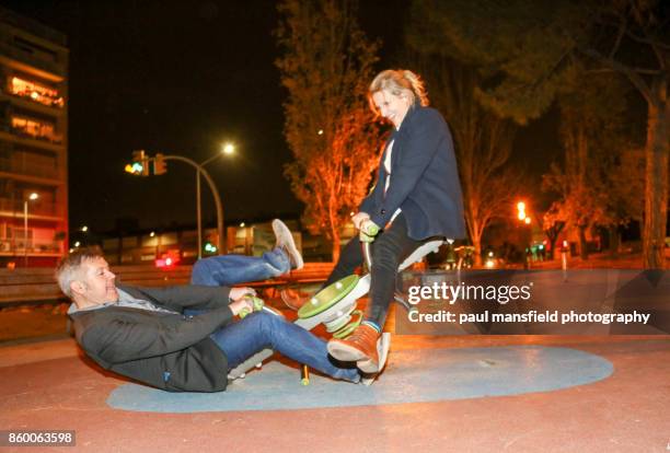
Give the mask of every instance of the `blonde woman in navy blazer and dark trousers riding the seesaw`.
M 385 361 L 378 340 L 400 264 L 431 237 L 464 237 L 465 224 L 451 133 L 440 113 L 428 107 L 419 77 L 408 70 L 382 71 L 370 84 L 368 100 L 394 130 L 377 185 L 351 219 L 360 236 L 346 245 L 326 284 L 353 274 L 362 263 L 360 241 L 374 241 L 365 320 L 347 339 L 328 341 L 328 352 L 342 361 L 356 361 L 366 373 L 377 373 Z

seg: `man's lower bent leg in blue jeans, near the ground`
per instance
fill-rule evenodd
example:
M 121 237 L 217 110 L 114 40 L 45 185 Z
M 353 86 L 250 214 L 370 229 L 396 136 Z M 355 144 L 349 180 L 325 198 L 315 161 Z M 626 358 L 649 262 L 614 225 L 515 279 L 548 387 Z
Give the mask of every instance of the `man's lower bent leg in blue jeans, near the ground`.
M 211 339 L 228 357 L 228 367 L 235 368 L 265 348 L 309 365 L 335 379 L 358 382 L 356 368 L 339 368 L 331 362 L 326 342 L 309 330 L 280 316 L 255 312 L 213 334 Z

